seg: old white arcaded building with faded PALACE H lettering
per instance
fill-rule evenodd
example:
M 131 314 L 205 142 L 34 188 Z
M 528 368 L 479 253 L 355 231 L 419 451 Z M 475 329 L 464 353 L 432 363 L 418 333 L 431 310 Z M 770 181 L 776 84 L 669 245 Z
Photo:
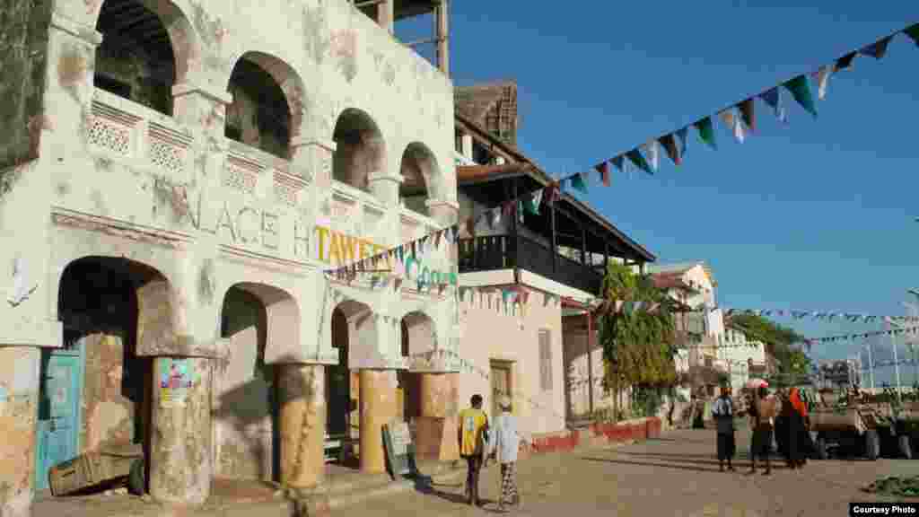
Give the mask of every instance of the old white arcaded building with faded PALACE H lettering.
M 447 1 L 365 4 L 5 4 L 0 515 L 106 446 L 194 504 L 322 484 L 352 423 L 383 471 L 399 397 L 448 418 L 456 365 L 409 358 L 455 349 L 450 291 L 323 274 L 457 220 Z M 393 36 L 432 11 L 436 65 Z

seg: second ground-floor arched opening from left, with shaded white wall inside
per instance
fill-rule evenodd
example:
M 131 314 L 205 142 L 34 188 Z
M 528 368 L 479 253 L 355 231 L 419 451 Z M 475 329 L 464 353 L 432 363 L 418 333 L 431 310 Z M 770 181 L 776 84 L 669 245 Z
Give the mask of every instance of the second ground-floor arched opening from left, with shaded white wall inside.
M 238 283 L 223 297 L 221 338 L 228 357 L 214 376 L 215 476 L 280 478 L 276 343 L 300 332 L 297 304 L 263 284 Z

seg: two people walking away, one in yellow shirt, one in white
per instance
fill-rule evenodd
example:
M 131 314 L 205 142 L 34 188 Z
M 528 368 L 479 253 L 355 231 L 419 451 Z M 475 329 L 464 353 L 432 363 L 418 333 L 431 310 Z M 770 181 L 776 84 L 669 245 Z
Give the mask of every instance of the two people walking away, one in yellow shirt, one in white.
M 520 493 L 516 486 L 516 460 L 520 448 L 516 417 L 511 412 L 511 400 L 502 396 L 498 400 L 501 414 L 494 419 L 494 428 L 482 410 L 482 396 L 473 395 L 471 408 L 459 413 L 459 455 L 469 467 L 466 475 L 466 500 L 474 506 L 482 506 L 479 498 L 479 473 L 488 458 L 501 464 L 501 496 L 498 509 L 505 504 L 520 506 Z

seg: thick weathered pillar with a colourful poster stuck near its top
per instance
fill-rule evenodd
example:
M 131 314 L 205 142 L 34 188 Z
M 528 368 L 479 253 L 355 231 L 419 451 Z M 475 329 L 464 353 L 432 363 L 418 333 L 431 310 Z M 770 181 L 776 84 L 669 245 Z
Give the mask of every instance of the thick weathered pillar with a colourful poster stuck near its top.
M 199 505 L 210 496 L 211 367 L 208 358 L 153 360 L 150 495 L 158 502 Z M 182 372 L 190 385 L 164 388 L 164 376 Z

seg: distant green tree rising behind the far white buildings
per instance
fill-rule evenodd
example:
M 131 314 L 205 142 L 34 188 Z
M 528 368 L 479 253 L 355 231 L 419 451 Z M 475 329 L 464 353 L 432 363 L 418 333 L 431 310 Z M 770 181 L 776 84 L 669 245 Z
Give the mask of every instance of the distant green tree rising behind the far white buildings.
M 794 329 L 753 314 L 732 316 L 731 322 L 747 339 L 766 343 L 766 350 L 776 358 L 779 384 L 793 384 L 811 372 L 811 358 L 794 346 L 804 341 Z

